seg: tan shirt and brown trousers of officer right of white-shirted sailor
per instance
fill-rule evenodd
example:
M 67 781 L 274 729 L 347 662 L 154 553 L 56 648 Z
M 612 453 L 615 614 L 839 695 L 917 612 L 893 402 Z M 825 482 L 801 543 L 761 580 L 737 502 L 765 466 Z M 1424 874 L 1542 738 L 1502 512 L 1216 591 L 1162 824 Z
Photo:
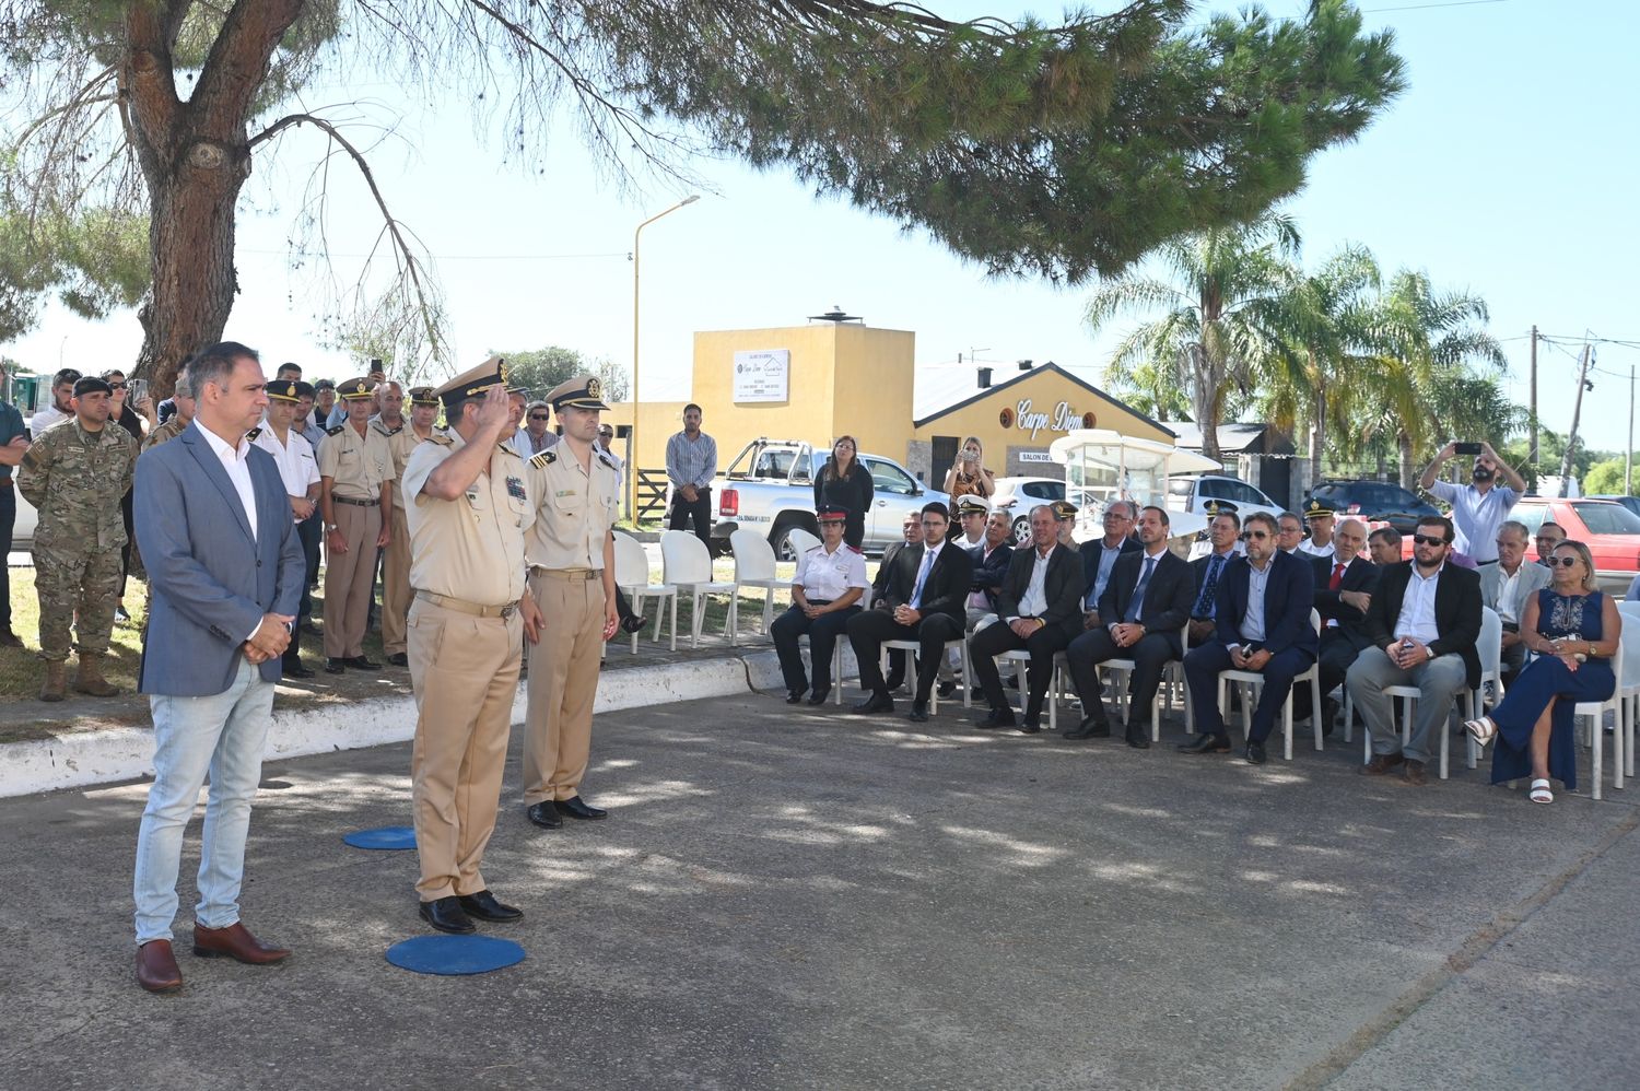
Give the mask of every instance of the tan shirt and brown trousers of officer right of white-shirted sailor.
M 366 425 L 330 428 L 318 448 L 320 477 L 330 477 L 331 512 L 348 541 L 346 553 L 325 558 L 325 656 L 364 655 L 376 582 L 376 538 L 382 533 L 382 484 L 394 477 L 394 459 L 380 431 Z M 326 535 L 326 550 L 330 538 Z

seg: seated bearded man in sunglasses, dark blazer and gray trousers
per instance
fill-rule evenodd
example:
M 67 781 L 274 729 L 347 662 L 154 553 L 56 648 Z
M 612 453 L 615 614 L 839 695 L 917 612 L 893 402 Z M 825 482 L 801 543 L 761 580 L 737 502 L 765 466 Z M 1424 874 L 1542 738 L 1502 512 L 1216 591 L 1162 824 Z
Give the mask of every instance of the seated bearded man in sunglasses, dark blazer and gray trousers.
M 1373 646 L 1350 666 L 1345 684 L 1373 738 L 1373 760 L 1364 776 L 1384 776 L 1405 765 L 1409 784 L 1424 784 L 1424 765 L 1435 732 L 1446 730 L 1458 691 L 1481 684 L 1481 577 L 1448 564 L 1451 520 L 1420 518 L 1412 538 L 1412 559 L 1387 566 L 1378 579 L 1366 612 Z M 1401 733 L 1384 696 L 1386 686 L 1417 686 L 1420 697 L 1412 737 Z

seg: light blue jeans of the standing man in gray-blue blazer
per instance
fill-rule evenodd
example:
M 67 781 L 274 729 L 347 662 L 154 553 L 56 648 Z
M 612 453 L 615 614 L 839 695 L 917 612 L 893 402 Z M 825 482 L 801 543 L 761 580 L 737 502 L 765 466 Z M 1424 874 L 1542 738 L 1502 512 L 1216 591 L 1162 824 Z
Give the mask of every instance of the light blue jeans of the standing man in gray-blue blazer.
M 212 697 L 148 697 L 154 715 L 154 784 L 136 835 L 136 942 L 169 940 L 177 915 L 182 830 L 194 815 L 205 773 L 210 801 L 200 845 L 200 904 L 194 920 L 226 929 L 239 919 L 244 837 L 262 779 L 262 750 L 274 684 L 243 658 L 233 684 Z

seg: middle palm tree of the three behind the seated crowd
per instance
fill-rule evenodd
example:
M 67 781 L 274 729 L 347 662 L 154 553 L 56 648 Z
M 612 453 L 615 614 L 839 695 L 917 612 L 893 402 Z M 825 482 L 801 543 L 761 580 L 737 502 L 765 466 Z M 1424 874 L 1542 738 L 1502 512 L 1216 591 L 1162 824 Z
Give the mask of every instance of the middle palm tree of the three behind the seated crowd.
M 1284 431 L 1309 430 L 1310 481 L 1322 479 L 1328 430 L 1342 433 L 1355 409 L 1353 379 L 1368 366 L 1378 262 L 1363 246 L 1345 246 L 1319 272 L 1296 276 L 1271 308 L 1286 351 L 1261 399 Z

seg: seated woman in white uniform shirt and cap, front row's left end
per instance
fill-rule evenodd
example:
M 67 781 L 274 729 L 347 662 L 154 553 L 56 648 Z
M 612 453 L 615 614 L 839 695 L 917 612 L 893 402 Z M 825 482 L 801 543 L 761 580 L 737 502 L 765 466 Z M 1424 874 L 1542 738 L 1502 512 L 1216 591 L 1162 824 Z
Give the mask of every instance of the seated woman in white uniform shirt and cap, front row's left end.
M 797 650 L 797 638 L 804 633 L 809 633 L 813 673 L 809 704 L 825 704 L 831 692 L 836 638 L 848 633 L 848 619 L 859 614 L 859 599 L 871 587 L 866 579 L 866 555 L 843 541 L 848 509 L 822 504 L 815 518 L 820 522 L 822 543 L 810 546 L 797 559 L 792 605 L 769 625 L 774 651 L 781 656 L 781 674 L 786 676 L 786 704 L 797 704 L 810 689 L 804 674 L 804 655 Z

